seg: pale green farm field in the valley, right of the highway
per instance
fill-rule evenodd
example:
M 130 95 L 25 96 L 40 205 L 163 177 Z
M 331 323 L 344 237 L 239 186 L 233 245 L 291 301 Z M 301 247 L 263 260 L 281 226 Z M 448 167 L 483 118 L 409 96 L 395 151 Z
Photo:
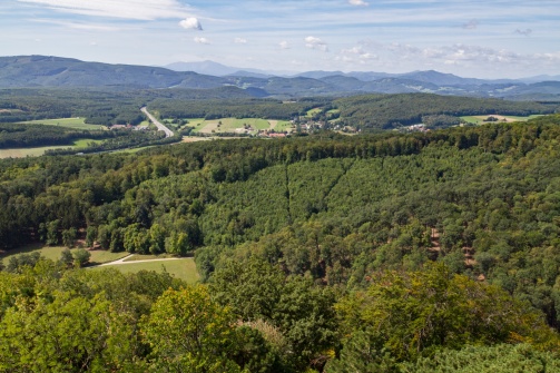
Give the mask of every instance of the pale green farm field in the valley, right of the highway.
M 237 132 L 256 135 L 258 130 L 274 129 L 275 131 L 289 131 L 292 124 L 287 120 L 267 120 L 258 118 L 219 118 L 205 120 L 204 118 L 186 118 L 194 132 L 200 134 L 223 134 Z M 250 130 L 245 127 L 250 127 Z

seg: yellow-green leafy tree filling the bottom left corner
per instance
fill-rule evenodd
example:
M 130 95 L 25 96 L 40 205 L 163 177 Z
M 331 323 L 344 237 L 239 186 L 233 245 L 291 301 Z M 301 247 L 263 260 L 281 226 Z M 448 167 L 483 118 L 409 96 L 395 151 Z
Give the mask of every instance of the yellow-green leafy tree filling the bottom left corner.
M 131 330 L 102 296 L 23 298 L 0 321 L 2 372 L 107 372 L 131 361 Z

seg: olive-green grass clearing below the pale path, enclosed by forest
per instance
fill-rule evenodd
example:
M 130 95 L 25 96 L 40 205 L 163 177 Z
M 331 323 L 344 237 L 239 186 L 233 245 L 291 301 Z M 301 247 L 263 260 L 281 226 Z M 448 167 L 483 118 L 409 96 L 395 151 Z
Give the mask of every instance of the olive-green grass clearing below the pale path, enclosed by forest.
M 174 277 L 180 278 L 189 284 L 198 281 L 198 272 L 196 271 L 195 261 L 193 258 L 183 258 L 177 261 L 155 261 L 155 262 L 125 262 L 125 264 L 112 265 L 116 269 L 122 273 L 136 273 L 139 271 L 156 271 L 163 272 L 164 268 Z M 100 267 L 104 268 L 104 267 Z

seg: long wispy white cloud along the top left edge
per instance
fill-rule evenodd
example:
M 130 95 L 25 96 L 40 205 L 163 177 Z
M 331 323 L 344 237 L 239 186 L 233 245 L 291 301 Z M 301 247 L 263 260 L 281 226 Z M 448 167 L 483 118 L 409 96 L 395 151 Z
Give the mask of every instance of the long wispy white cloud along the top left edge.
M 189 9 L 177 0 L 17 0 L 67 13 L 94 17 L 155 20 L 184 18 Z

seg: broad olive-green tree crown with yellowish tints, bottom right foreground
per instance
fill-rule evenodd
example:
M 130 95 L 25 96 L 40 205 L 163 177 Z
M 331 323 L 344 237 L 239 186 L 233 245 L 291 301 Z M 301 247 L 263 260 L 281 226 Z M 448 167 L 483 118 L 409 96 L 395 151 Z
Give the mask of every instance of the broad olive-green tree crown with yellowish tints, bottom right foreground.
M 351 364 L 361 351 L 370 351 L 369 359 L 377 364 L 386 354 L 413 361 L 469 343 L 525 341 L 559 347 L 558 336 L 528 304 L 495 286 L 453 275 L 441 264 L 377 274 L 366 292 L 346 297 L 337 310 L 348 337 L 332 366 Z

